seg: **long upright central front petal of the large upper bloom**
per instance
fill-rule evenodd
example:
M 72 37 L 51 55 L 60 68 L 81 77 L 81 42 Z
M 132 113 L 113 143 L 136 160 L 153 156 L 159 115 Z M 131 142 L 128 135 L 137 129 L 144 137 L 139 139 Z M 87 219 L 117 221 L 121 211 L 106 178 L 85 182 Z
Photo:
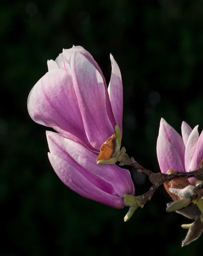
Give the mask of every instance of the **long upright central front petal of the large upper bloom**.
M 99 71 L 79 52 L 70 56 L 69 64 L 87 138 L 99 150 L 114 134 L 114 125 L 107 114 L 103 79 Z

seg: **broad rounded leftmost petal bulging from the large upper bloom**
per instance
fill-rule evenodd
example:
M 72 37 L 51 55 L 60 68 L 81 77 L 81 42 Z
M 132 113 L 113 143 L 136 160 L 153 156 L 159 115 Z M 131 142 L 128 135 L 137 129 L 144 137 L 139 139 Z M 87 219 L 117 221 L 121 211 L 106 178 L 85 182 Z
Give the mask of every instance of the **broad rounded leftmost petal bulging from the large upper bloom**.
M 65 70 L 51 70 L 35 84 L 28 96 L 31 118 L 82 141 L 90 148 L 77 103 L 72 77 Z

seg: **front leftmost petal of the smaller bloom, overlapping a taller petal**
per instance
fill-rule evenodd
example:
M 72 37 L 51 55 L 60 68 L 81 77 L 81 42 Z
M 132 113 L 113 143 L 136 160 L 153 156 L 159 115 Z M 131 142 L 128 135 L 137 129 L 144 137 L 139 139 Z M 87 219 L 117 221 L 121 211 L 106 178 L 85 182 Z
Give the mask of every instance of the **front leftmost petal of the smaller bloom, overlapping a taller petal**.
M 162 173 L 166 173 L 169 169 L 185 172 L 180 155 L 176 148 L 161 133 L 159 133 L 157 139 L 157 157 Z

